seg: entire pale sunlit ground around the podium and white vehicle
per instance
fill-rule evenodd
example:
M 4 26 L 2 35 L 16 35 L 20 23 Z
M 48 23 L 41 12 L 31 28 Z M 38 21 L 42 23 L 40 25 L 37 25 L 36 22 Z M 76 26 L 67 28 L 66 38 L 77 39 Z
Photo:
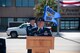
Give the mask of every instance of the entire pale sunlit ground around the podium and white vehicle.
M 61 37 L 55 37 L 54 50 L 50 53 L 80 53 L 80 33 L 60 32 Z M 53 33 L 55 36 L 56 33 Z M 6 53 L 27 53 L 26 36 L 10 38 L 6 32 L 0 32 L 0 38 L 6 39 Z

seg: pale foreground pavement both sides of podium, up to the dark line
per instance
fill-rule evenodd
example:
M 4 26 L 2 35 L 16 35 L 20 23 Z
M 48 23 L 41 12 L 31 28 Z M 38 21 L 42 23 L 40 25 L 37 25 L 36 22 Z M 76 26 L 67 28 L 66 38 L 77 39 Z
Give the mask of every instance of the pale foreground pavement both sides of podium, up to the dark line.
M 7 53 L 27 53 L 26 39 L 7 39 Z M 51 53 L 80 53 L 80 44 L 55 37 L 54 50 Z

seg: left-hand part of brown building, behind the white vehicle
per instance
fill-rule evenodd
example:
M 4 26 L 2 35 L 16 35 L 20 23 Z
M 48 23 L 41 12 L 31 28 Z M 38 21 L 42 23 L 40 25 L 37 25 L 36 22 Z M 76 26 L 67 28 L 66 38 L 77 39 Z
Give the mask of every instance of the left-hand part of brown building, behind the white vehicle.
M 0 30 L 10 23 L 28 22 L 34 17 L 34 6 L 38 0 L 0 0 Z

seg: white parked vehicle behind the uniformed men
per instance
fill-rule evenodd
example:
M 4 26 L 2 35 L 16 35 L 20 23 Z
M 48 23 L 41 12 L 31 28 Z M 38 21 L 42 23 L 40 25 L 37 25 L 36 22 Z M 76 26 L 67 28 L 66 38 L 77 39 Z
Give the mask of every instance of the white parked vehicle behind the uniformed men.
M 12 38 L 17 38 L 19 35 L 26 35 L 26 27 L 30 23 L 23 23 L 18 27 L 11 27 L 8 28 L 6 33 L 8 36 L 11 36 Z

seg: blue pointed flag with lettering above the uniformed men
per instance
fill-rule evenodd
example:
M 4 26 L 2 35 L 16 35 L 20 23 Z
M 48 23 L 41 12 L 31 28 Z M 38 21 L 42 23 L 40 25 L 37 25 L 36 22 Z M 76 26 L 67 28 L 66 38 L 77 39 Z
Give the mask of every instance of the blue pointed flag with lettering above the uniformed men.
M 44 18 L 45 21 L 54 22 L 56 25 L 58 25 L 56 19 L 60 18 L 60 17 L 61 17 L 60 14 L 58 12 L 54 11 L 49 6 L 44 7 L 43 18 Z

